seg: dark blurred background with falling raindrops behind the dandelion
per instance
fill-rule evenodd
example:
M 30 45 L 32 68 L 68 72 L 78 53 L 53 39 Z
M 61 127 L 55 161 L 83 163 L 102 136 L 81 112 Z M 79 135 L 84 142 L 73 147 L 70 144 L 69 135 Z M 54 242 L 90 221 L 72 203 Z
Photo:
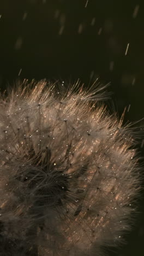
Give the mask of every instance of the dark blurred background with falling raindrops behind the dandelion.
M 0 17 L 1 91 L 17 78 L 59 79 L 65 86 L 78 78 L 87 86 L 99 78 L 111 83 L 107 90 L 113 92 L 111 107 L 119 117 L 127 107 L 125 120 L 144 118 L 139 0 L 0 0 Z M 127 245 L 110 255 L 144 255 L 143 198 Z

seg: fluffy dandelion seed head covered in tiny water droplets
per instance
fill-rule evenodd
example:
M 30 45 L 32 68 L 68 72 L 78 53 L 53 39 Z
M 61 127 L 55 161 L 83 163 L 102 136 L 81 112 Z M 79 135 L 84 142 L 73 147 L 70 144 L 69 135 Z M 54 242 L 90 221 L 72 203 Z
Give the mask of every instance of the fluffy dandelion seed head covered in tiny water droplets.
M 130 229 L 130 126 L 100 103 L 104 88 L 59 88 L 24 81 L 1 95 L 0 255 L 99 256 Z

